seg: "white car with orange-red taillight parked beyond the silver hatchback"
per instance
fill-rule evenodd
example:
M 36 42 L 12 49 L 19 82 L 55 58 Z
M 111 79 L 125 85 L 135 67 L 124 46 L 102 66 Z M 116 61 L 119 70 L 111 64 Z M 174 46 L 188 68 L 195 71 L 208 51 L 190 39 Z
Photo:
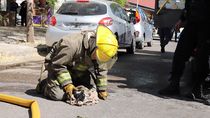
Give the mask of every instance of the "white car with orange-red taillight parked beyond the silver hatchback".
M 130 20 L 134 23 L 137 48 L 143 49 L 145 43 L 147 43 L 147 46 L 152 46 L 153 22 L 148 19 L 141 7 L 127 9 L 126 11 L 129 14 Z

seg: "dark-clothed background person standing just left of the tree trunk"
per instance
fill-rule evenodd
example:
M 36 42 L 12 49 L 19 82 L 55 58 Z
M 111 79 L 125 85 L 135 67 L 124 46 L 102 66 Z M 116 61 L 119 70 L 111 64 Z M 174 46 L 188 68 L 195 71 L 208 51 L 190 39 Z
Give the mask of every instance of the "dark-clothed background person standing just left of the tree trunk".
M 19 15 L 21 16 L 21 26 L 27 26 L 27 2 L 26 0 L 24 0 L 21 4 L 20 4 L 21 8 L 20 8 L 20 12 Z

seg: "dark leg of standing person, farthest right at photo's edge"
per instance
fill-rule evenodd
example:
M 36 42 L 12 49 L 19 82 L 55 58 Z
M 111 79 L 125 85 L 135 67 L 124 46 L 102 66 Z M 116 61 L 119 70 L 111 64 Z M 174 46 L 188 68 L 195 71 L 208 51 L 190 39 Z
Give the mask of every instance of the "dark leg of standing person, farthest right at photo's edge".
M 204 29 L 204 28 L 202 28 Z M 209 74 L 209 50 L 210 45 L 206 42 L 206 39 L 208 38 L 207 34 L 208 30 L 202 30 L 200 29 L 198 31 L 198 48 L 195 56 L 195 62 L 196 62 L 196 71 L 195 71 L 195 78 L 193 81 L 193 89 L 192 94 L 194 94 L 197 98 L 202 98 L 203 96 L 203 89 L 200 87 L 204 84 L 205 79 L 207 78 Z

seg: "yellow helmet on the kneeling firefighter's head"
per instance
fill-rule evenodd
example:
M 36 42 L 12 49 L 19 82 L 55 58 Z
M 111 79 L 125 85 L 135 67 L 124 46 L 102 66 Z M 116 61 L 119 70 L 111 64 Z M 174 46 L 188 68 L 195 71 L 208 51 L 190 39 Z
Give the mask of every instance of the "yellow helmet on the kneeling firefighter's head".
M 112 31 L 99 25 L 96 30 L 96 57 L 100 62 L 109 61 L 118 50 L 118 41 Z

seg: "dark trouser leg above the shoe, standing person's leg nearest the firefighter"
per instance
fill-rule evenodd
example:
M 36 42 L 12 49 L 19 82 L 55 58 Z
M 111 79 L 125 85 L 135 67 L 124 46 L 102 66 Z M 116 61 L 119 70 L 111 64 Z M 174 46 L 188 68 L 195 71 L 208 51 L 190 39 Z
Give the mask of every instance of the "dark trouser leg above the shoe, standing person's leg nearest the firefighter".
M 187 23 L 180 34 L 172 62 L 171 81 L 173 83 L 179 83 L 185 69 L 185 62 L 189 60 L 193 50 L 196 48 L 199 37 L 197 28 L 199 28 L 198 25 Z

